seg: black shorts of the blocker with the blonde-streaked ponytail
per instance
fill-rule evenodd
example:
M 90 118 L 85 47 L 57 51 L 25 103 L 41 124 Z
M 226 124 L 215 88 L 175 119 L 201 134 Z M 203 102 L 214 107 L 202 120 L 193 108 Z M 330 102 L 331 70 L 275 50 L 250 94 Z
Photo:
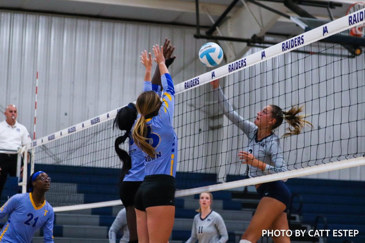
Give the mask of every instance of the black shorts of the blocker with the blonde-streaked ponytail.
M 145 176 L 139 187 L 134 207 L 146 211 L 148 207 L 175 205 L 175 178 L 168 175 Z

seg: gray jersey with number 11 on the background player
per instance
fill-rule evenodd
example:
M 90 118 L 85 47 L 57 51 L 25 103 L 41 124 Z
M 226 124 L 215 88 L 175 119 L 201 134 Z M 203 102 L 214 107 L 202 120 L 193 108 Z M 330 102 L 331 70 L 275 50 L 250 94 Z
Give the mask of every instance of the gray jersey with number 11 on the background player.
M 211 211 L 205 219 L 195 215 L 191 237 L 186 243 L 225 243 L 228 240 L 226 224 L 219 213 Z

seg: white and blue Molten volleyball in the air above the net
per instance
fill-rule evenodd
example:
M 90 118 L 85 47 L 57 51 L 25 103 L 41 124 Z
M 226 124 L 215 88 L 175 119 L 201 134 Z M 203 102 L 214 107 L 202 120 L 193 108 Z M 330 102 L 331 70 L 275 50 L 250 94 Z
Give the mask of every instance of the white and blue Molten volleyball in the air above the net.
M 205 43 L 199 50 L 199 59 L 207 67 L 215 67 L 223 60 L 223 50 L 214 42 Z

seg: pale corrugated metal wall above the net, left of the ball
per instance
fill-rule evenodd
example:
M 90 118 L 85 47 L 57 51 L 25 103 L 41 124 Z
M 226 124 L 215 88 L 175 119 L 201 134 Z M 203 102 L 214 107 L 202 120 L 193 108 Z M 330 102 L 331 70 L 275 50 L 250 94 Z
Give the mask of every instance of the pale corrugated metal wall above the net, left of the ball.
M 121 21 L 0 11 L 0 108 L 18 106 L 18 121 L 33 132 L 39 71 L 36 137 L 135 101 L 142 91 L 143 50 L 176 46 L 174 82 L 206 72 L 195 29 Z M 155 66 L 154 66 L 155 67 Z

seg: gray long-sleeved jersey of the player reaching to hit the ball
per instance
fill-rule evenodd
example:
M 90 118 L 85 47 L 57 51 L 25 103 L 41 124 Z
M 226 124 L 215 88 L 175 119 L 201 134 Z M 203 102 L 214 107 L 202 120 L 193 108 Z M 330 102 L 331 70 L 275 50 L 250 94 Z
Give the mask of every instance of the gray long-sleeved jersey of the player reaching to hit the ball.
M 243 150 L 253 154 L 257 160 L 266 164 L 264 171 L 248 165 L 249 177 L 288 171 L 287 164 L 283 158 L 283 150 L 281 149 L 279 138 L 276 134 L 271 133 L 268 137 L 257 140 L 257 126 L 252 122 L 243 119 L 243 117 L 233 110 L 220 87 L 214 89 L 214 99 L 218 100 L 219 107 L 223 110 L 224 115 L 248 137 L 249 143 L 247 146 L 243 147 Z

